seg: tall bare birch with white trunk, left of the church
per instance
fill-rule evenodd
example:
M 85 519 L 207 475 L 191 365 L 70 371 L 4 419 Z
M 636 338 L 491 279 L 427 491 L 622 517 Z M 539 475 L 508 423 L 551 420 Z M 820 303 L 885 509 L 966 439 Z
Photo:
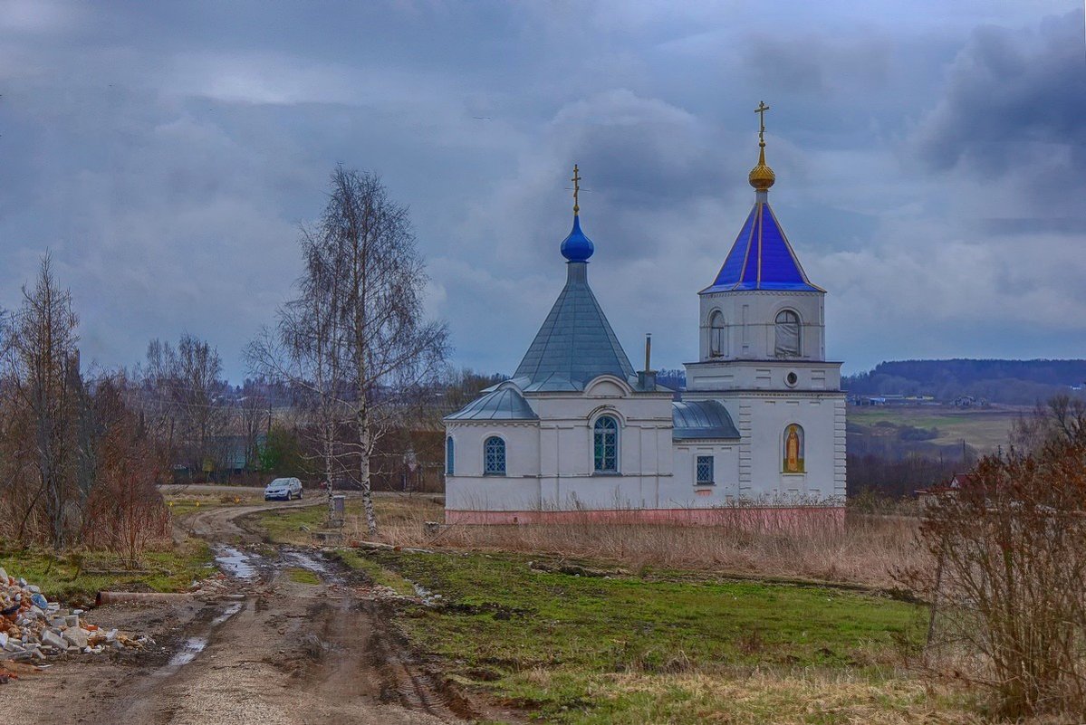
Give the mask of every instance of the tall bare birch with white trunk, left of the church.
M 336 423 L 351 421 L 350 474 L 372 535 L 374 446 L 441 371 L 449 333 L 424 315 L 427 277 L 407 208 L 389 199 L 376 174 L 338 167 L 330 186 L 324 214 L 303 233 L 301 294 L 280 310 L 278 334 L 251 348 L 251 359 L 274 364 L 272 353 L 286 353 L 293 374 L 328 407 L 326 451 L 336 447 Z

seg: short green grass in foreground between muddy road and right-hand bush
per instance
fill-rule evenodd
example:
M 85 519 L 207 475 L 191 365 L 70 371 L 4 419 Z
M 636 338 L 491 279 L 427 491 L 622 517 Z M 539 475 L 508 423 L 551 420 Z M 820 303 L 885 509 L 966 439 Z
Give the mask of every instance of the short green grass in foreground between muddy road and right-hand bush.
M 520 555 L 355 556 L 441 596 L 399 624 L 446 673 L 546 722 L 971 722 L 962 695 L 901 669 L 922 641 L 913 605 L 682 572 L 577 576 Z

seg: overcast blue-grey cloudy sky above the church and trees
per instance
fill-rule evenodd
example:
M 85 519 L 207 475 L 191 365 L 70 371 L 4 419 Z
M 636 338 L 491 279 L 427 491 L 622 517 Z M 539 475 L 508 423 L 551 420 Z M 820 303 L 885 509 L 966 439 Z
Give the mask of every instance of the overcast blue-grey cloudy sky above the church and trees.
M 770 192 L 826 347 L 1086 357 L 1081 0 L 0 0 L 0 307 L 48 249 L 85 360 L 191 332 L 235 382 L 342 163 L 407 204 L 453 362 L 512 372 L 581 166 L 619 339 L 697 356 L 697 291 Z

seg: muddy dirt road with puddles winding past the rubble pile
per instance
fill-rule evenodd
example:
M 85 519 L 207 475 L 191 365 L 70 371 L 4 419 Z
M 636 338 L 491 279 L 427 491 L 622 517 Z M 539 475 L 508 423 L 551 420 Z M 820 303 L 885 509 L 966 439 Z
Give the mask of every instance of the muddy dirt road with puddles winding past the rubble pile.
M 229 576 L 214 598 L 102 607 L 147 651 L 80 656 L 0 691 L 13 722 L 151 725 L 430 724 L 495 713 L 439 685 L 387 624 L 357 573 L 311 549 L 255 546 L 243 517 L 319 501 L 209 509 L 186 525 Z M 308 580 L 307 582 L 305 580 Z M 15 708 L 15 710 L 9 710 Z

